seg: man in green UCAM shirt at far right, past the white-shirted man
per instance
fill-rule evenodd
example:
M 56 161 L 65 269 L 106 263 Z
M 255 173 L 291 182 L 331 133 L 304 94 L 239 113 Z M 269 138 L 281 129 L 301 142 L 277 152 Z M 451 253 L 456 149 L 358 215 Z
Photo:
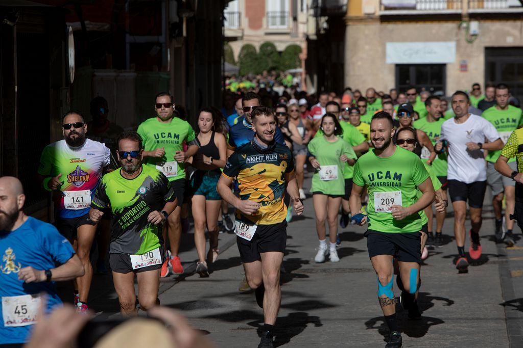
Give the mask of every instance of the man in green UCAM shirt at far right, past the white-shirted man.
M 499 83 L 495 89 L 496 105 L 489 107 L 482 113 L 482 116 L 494 125 L 499 133 L 499 137 L 504 143 L 507 142 L 510 134 L 519 126 L 523 125 L 523 117 L 521 117 L 521 109 L 508 104 L 510 93 L 508 86 L 504 83 Z M 503 194 L 505 193 L 505 222 L 506 232 L 512 233 L 514 227 L 514 220 L 510 220 L 510 214 L 514 214 L 514 206 L 516 204 L 516 182 L 510 178 L 504 177 L 494 169 L 494 163 L 499 157 L 501 150 L 488 151 L 487 160 L 487 184 L 492 189 L 492 206 L 496 217 L 495 236 L 498 242 L 506 239 L 507 245 L 513 245 L 514 241 L 511 238 L 504 238 L 503 231 L 503 214 L 502 203 Z M 513 171 L 517 171 L 516 159 L 508 160 L 508 165 Z

